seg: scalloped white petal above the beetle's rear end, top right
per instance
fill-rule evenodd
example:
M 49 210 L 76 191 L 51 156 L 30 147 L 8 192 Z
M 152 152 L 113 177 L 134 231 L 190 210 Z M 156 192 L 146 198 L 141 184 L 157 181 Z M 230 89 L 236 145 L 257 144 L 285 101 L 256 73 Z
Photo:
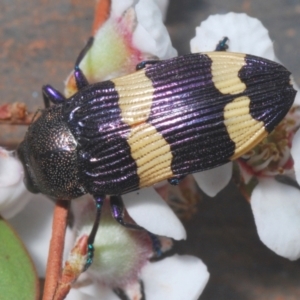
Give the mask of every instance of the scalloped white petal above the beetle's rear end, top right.
M 192 52 L 214 51 L 224 37 L 229 38 L 229 51 L 257 55 L 275 60 L 273 43 L 263 24 L 246 14 L 230 12 L 212 15 L 196 28 L 191 40 Z

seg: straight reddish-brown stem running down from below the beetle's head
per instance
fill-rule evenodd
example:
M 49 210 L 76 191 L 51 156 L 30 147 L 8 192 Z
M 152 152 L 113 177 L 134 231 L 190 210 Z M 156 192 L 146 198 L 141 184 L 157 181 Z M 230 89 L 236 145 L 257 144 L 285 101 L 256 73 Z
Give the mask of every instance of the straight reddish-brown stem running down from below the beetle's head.
M 62 272 L 62 259 L 67 227 L 69 201 L 57 200 L 49 248 L 43 300 L 53 300 Z

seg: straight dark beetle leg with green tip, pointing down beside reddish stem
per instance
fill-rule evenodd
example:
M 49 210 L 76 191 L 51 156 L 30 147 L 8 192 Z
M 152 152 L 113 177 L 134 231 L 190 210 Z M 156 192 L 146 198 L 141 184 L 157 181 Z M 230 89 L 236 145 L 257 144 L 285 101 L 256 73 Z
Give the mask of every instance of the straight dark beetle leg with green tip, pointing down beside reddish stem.
M 93 257 L 94 257 L 94 240 L 95 236 L 98 231 L 99 223 L 100 223 L 100 216 L 101 216 L 101 210 L 103 206 L 105 196 L 94 196 L 95 204 L 96 204 L 96 218 L 94 221 L 94 225 L 92 228 L 92 231 L 89 235 L 88 238 L 88 253 L 87 253 L 87 259 L 86 259 L 86 264 L 84 267 L 84 270 L 86 270 L 93 262 Z

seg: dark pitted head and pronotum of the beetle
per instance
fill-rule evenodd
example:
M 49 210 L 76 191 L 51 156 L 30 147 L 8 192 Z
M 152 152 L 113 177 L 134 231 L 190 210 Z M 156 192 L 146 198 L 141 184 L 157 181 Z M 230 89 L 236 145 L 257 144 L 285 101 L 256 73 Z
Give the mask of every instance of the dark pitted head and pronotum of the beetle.
M 77 141 L 62 119 L 61 105 L 42 111 L 17 153 L 30 192 L 65 200 L 85 194 L 78 179 Z

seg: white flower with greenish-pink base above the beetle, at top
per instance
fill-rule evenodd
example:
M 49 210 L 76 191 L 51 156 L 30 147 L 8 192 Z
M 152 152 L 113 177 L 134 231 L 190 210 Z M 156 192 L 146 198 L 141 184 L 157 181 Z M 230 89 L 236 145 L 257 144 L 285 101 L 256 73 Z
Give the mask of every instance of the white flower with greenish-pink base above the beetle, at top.
M 132 73 L 143 60 L 177 55 L 153 0 L 112 1 L 107 14 L 99 28 L 96 24 L 93 45 L 79 64 L 89 83 Z M 67 97 L 77 91 L 73 72 L 65 84 Z

